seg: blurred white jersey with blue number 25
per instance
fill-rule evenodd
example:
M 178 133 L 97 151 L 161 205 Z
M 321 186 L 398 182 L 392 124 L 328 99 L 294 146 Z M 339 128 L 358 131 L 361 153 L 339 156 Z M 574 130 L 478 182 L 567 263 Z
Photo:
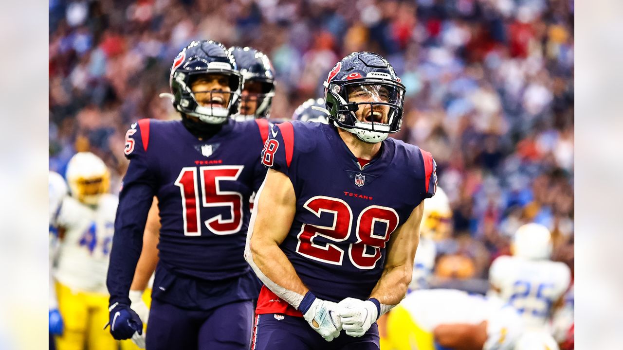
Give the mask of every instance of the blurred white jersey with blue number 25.
M 490 291 L 515 307 L 527 328 L 548 328 L 553 304 L 569 287 L 571 270 L 561 262 L 498 257 L 489 270 L 489 281 L 500 289 Z

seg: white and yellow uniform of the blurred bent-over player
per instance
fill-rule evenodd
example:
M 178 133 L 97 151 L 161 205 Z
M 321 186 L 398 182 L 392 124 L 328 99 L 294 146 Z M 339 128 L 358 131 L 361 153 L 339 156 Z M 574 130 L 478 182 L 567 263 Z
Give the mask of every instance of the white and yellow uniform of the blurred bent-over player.
M 432 350 L 434 329 L 440 324 L 479 324 L 487 321 L 487 341 L 483 349 L 512 349 L 522 332 L 521 319 L 516 310 L 497 299 L 469 295 L 450 289 L 416 290 L 407 295 L 389 314 L 388 337 L 399 349 Z M 406 311 L 409 320 L 404 319 Z M 401 316 L 402 313 L 402 316 Z M 392 320 L 392 317 L 396 317 Z M 404 329 L 412 324 L 412 330 Z M 394 326 L 395 325 L 395 326 Z M 405 333 L 413 336 L 405 336 Z M 392 339 L 393 338 L 393 339 Z M 404 341 L 410 338 L 409 345 Z

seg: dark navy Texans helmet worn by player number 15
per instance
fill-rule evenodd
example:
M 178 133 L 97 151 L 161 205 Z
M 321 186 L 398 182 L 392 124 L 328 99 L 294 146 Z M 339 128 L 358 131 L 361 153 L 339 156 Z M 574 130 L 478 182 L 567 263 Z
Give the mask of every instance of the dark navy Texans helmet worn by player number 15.
M 229 99 L 222 107 L 201 106 L 191 90 L 193 82 L 206 74 L 221 74 L 229 78 Z M 186 116 L 196 116 L 204 123 L 220 125 L 238 112 L 242 77 L 237 71 L 234 57 L 226 47 L 213 40 L 193 40 L 173 62 L 169 85 L 173 94 L 173 107 Z M 217 92 L 217 90 L 209 93 Z

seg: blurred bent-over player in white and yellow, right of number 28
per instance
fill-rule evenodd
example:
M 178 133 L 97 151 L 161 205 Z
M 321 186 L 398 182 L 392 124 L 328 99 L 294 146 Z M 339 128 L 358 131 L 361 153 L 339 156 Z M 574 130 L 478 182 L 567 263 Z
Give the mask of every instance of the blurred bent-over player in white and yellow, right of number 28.
M 450 289 L 413 291 L 389 313 L 387 327 L 386 349 L 395 350 L 511 350 L 523 331 L 511 306 Z

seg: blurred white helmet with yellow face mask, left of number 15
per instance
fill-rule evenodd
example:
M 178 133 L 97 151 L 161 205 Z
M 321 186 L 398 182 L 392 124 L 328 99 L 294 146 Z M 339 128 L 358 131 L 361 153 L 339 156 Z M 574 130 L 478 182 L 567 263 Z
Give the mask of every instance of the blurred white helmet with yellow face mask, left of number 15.
M 74 154 L 67 165 L 67 182 L 73 197 L 91 206 L 108 192 L 110 173 L 106 164 L 93 153 Z

